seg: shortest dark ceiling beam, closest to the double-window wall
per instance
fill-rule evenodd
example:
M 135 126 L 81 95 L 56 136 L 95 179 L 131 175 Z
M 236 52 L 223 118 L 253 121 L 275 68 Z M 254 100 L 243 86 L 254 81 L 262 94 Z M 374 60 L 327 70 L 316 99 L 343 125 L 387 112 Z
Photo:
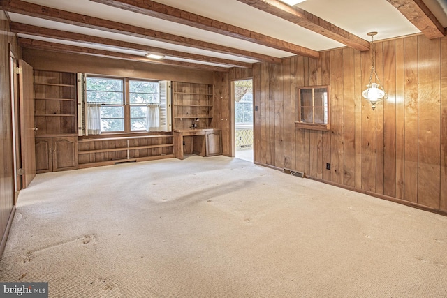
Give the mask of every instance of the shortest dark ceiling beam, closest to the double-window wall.
M 187 67 L 187 68 L 196 68 L 196 69 L 212 70 L 212 71 L 219 71 L 219 72 L 227 72 L 230 69 L 230 68 L 219 67 L 219 66 L 210 66 L 210 65 L 206 65 L 206 64 L 195 64 L 195 63 L 168 60 L 168 59 L 162 59 L 162 60 L 148 59 L 146 57 L 133 55 L 133 54 L 111 52 L 111 51 L 106 51 L 106 50 L 97 50 L 97 49 L 91 49 L 89 47 L 78 47 L 78 46 L 74 46 L 74 45 L 62 45 L 60 43 L 49 43 L 47 41 L 33 40 L 33 39 L 29 39 L 29 38 L 17 38 L 17 43 L 21 47 L 27 47 L 27 48 L 31 48 L 31 49 L 37 49 L 37 50 L 47 50 L 47 51 L 54 51 L 54 52 L 70 52 L 70 53 L 75 53 L 75 54 L 87 54 L 87 55 L 98 56 L 98 57 L 133 60 L 133 61 L 140 61 L 140 62 L 146 62 L 146 63 L 152 63 L 152 64 L 181 66 L 181 67 Z

